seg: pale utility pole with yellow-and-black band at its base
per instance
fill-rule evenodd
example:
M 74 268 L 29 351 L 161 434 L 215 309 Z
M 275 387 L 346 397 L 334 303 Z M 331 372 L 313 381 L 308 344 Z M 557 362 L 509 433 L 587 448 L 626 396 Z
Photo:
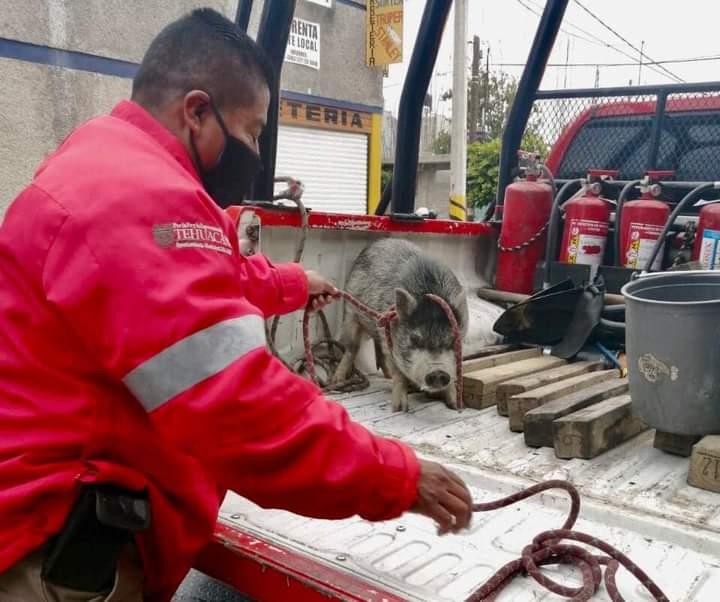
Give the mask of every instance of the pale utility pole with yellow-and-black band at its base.
M 465 221 L 467 176 L 467 1 L 455 0 L 455 33 L 453 50 L 453 121 L 450 146 L 450 219 Z M 479 62 L 479 61 L 478 61 Z

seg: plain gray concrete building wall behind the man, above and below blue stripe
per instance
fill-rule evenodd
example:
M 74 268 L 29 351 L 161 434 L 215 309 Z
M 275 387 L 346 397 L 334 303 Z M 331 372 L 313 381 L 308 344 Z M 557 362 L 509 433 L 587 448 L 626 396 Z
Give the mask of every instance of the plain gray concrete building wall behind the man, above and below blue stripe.
M 382 76 L 365 67 L 365 11 L 298 0 L 296 14 L 320 23 L 321 70 L 285 63 L 282 87 L 382 105 Z M 0 38 L 137 63 L 156 33 L 180 15 L 212 6 L 234 17 L 237 0 L 0 0 Z M 254 35 L 262 2 L 256 0 Z M 123 77 L 0 58 L 0 214 L 38 164 L 77 125 L 130 93 Z

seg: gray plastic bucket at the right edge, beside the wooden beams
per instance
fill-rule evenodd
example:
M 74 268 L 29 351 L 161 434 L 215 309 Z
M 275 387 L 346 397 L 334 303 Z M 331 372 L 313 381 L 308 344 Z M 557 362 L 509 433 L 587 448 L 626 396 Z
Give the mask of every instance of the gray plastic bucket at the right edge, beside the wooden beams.
M 669 433 L 720 433 L 720 272 L 648 274 L 621 292 L 634 412 Z

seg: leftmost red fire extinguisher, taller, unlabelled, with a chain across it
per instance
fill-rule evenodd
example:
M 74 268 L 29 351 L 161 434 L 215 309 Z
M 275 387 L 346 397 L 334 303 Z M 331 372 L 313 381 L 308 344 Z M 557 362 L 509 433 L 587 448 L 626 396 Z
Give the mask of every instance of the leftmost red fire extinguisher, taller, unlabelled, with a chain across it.
M 498 239 L 495 288 L 511 293 L 533 292 L 535 266 L 543 258 L 554 191 L 536 156 L 524 168 L 524 179 L 505 189 L 503 221 Z

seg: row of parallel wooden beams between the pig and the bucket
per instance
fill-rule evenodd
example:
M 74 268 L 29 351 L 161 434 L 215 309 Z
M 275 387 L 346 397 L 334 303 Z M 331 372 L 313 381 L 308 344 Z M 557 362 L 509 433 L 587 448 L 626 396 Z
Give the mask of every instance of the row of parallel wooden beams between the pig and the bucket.
M 464 362 L 465 404 L 497 406 L 529 447 L 559 458 L 593 458 L 648 427 L 632 413 L 626 378 L 602 362 L 566 362 L 538 349 Z

